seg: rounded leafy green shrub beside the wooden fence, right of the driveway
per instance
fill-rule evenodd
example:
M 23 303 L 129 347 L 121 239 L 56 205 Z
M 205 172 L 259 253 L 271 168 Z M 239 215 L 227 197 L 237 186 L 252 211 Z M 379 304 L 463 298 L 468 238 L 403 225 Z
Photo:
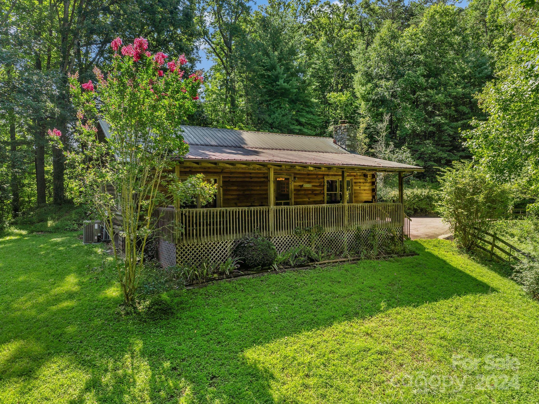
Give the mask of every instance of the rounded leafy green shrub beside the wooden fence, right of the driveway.
M 471 250 L 480 232 L 489 230 L 492 220 L 507 212 L 509 188 L 464 162 L 446 168 L 439 180 L 440 215 L 454 229 L 455 238 L 462 246 Z

